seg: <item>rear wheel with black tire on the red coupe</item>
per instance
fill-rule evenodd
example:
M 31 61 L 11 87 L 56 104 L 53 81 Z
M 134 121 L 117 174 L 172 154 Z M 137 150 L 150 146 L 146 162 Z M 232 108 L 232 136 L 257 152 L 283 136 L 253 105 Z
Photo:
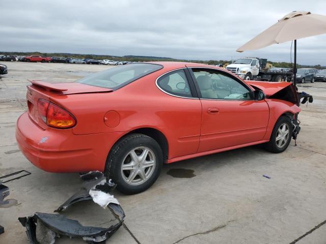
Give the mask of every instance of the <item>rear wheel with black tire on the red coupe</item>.
M 124 194 L 137 194 L 150 188 L 159 176 L 163 153 L 158 143 L 143 134 L 130 134 L 111 149 L 105 175 Z

